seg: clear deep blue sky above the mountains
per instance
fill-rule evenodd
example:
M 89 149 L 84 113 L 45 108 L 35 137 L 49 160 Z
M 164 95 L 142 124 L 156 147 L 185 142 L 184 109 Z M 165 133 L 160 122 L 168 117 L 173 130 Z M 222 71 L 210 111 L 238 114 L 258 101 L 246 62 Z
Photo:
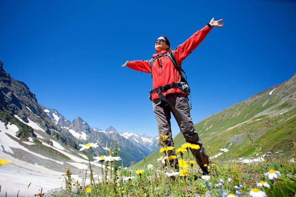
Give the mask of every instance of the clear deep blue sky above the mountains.
M 38 103 L 92 127 L 157 135 L 148 60 L 223 19 L 184 61 L 194 123 L 296 72 L 295 1 L 0 1 L 0 59 Z M 172 117 L 173 134 L 179 132 Z

